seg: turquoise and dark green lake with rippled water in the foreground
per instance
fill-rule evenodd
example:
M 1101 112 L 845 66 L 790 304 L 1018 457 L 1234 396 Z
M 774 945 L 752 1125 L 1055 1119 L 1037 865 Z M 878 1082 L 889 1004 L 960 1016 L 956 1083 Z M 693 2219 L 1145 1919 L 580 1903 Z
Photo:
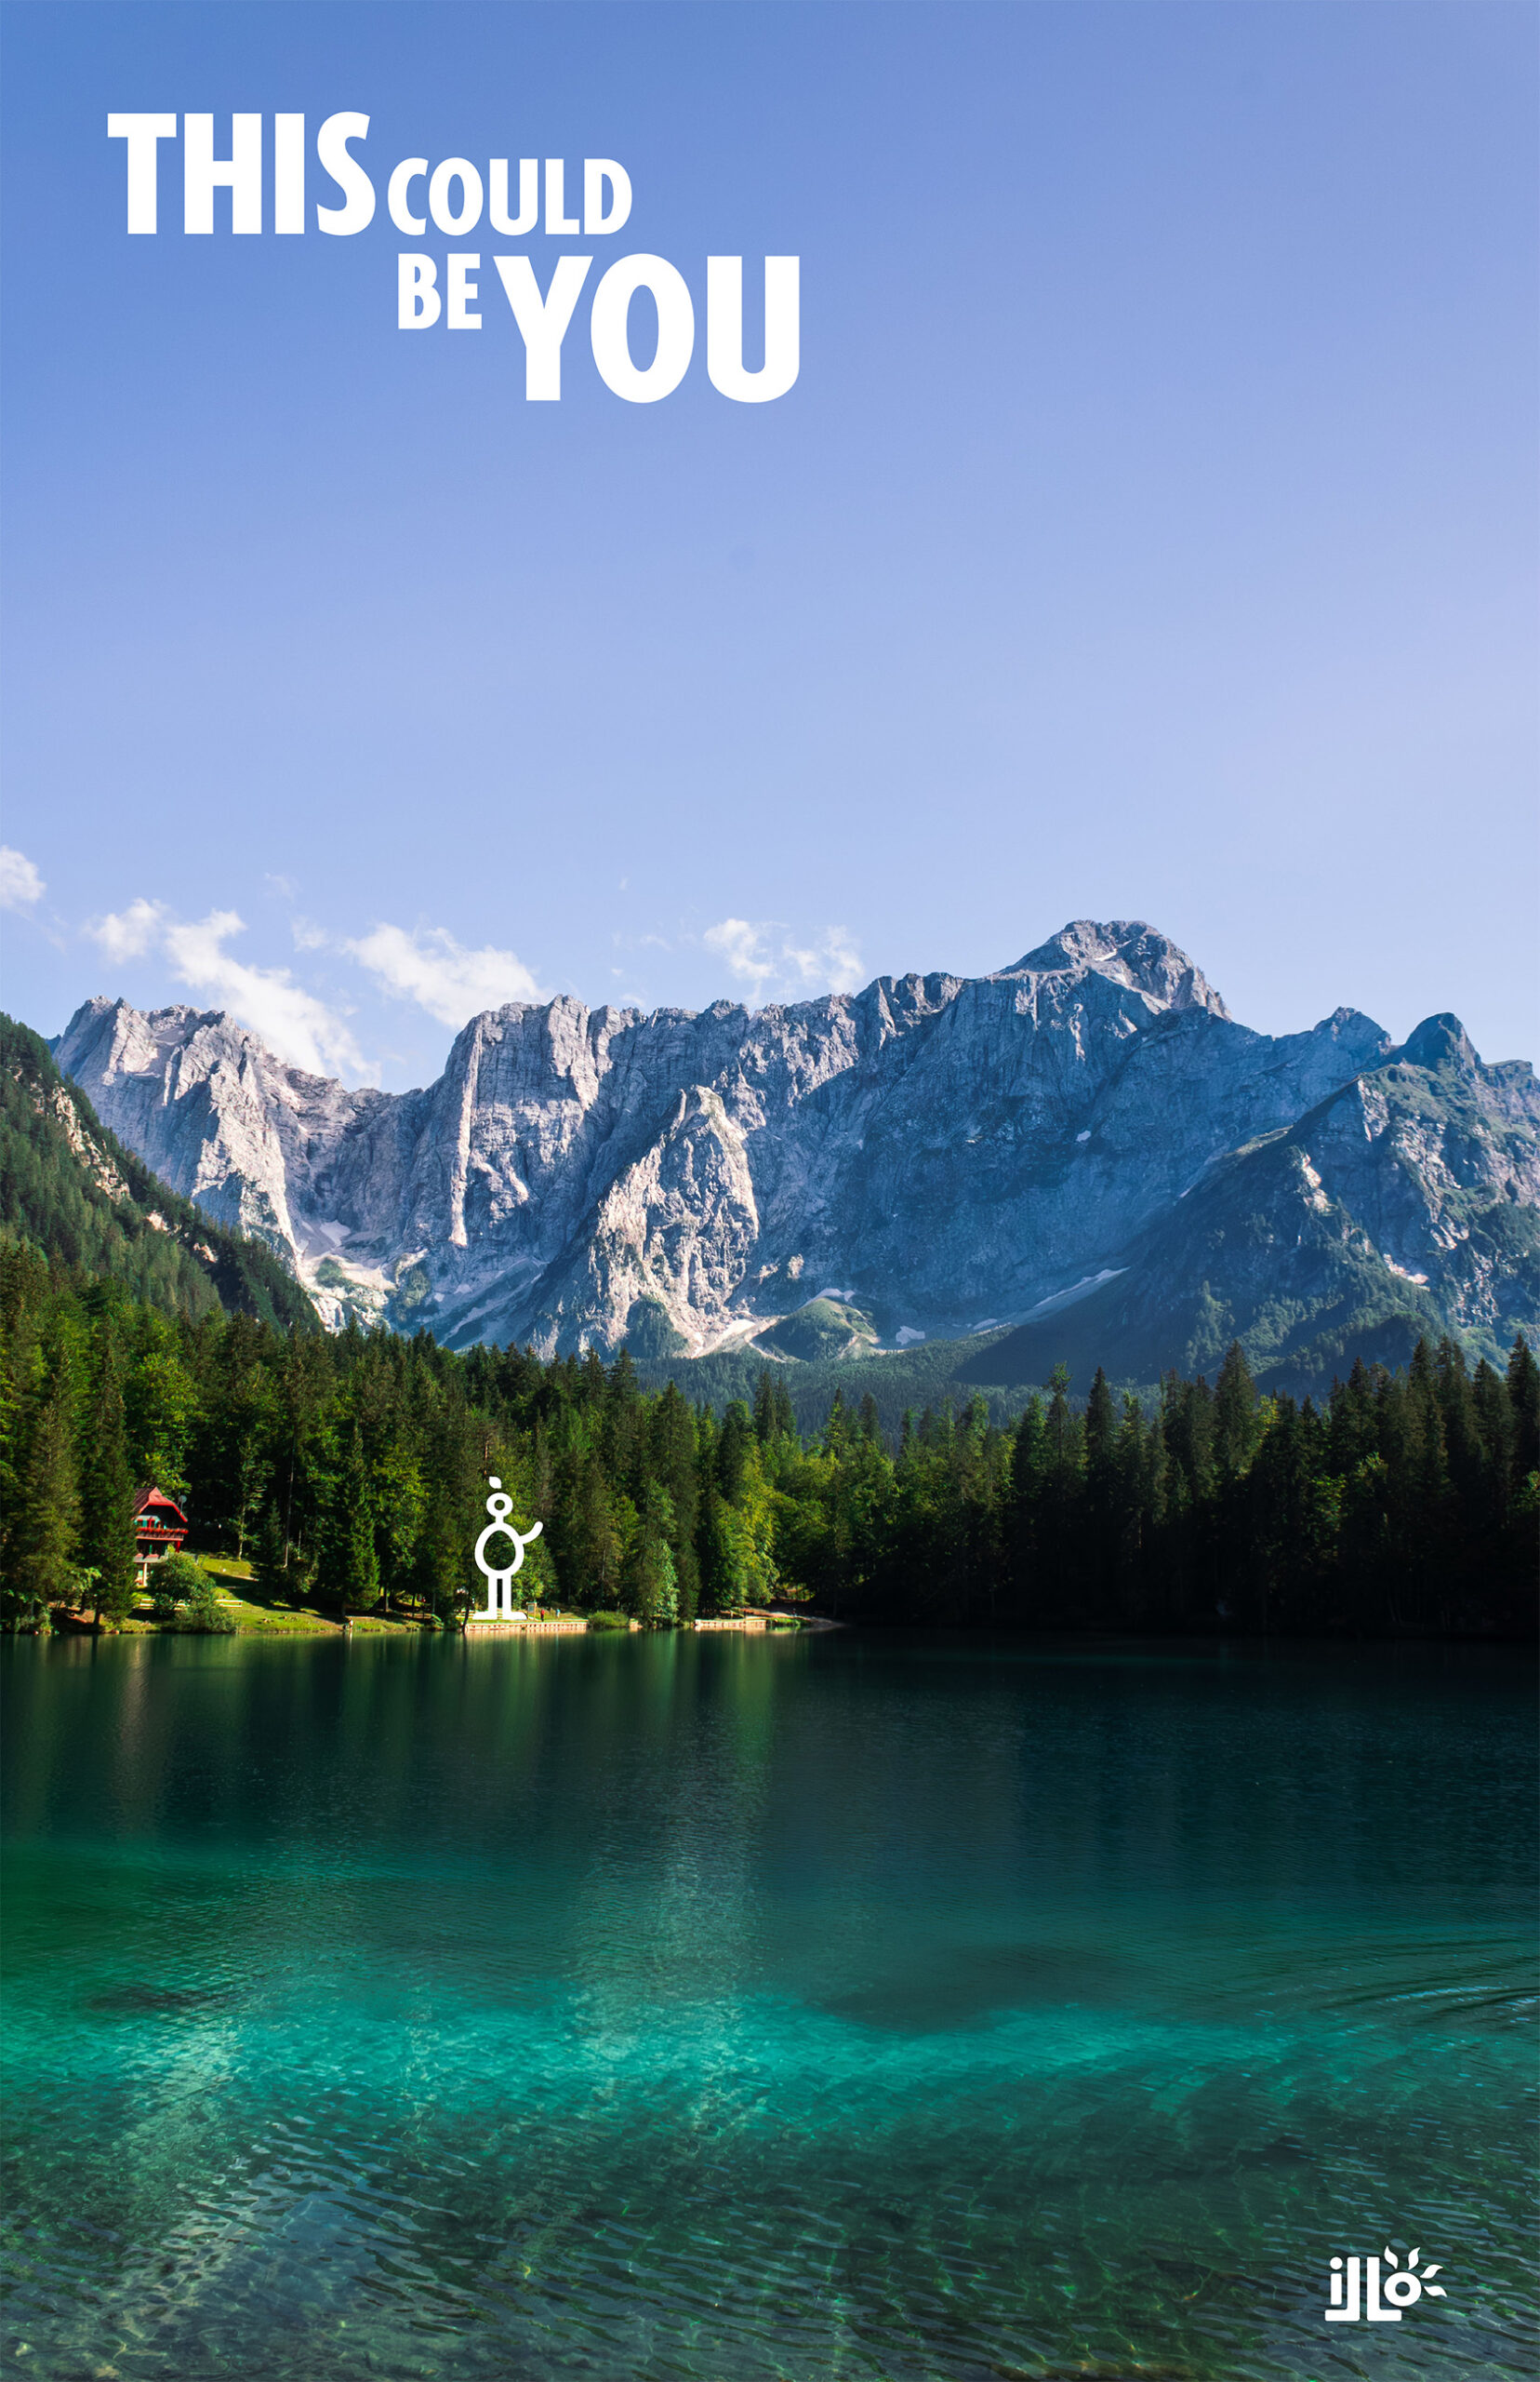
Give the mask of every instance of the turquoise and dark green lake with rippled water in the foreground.
M 1530 1667 L 10 1641 L 10 2372 L 1533 2375 Z

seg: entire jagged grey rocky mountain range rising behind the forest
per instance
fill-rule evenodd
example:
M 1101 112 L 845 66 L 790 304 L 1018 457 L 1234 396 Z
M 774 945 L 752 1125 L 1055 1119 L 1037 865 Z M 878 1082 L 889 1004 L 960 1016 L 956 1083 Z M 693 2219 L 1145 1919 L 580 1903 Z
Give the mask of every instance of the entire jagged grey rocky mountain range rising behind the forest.
M 426 1091 L 302 1074 L 186 1005 L 88 1000 L 52 1048 L 333 1324 L 788 1363 L 981 1334 L 1004 1382 L 1088 1334 L 1123 1379 L 1235 1334 L 1314 1379 L 1540 1320 L 1528 1062 L 1452 1017 L 1402 1048 L 1357 1010 L 1254 1034 L 1138 922 L 757 1012 L 509 1003 Z

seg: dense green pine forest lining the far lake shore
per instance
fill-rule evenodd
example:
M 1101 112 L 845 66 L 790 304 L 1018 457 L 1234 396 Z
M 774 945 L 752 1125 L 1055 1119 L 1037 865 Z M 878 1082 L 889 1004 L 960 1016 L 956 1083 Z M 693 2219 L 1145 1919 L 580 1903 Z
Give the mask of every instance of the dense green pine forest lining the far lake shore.
M 331 1610 L 452 1622 L 478 1589 L 486 1482 L 540 1517 L 528 1591 L 690 1622 L 771 1601 L 940 1627 L 1523 1636 L 1540 1520 L 1540 1372 L 1445 1341 L 1354 1365 L 1323 1405 L 1214 1384 L 1121 1403 L 1064 1367 L 1012 1427 L 983 1401 L 876 1405 L 805 1436 L 766 1367 L 721 1417 L 621 1353 L 540 1363 L 428 1334 L 326 1336 L 162 1312 L 0 1246 L 2 1610 L 124 1615 L 133 1491 L 193 1546 Z

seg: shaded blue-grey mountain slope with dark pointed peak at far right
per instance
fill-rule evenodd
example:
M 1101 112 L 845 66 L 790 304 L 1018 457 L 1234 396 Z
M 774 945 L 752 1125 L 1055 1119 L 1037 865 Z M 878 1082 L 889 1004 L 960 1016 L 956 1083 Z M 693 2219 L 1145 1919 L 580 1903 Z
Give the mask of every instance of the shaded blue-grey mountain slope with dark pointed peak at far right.
M 1266 1386 L 1321 1389 L 1357 1355 L 1404 1363 L 1454 1332 L 1504 1358 L 1540 1322 L 1540 1103 L 1431 1017 L 1373 1067 L 1202 1179 L 1073 1305 L 1028 1320 L 959 1382 L 1152 1382 L 1214 1372 L 1240 1339 Z

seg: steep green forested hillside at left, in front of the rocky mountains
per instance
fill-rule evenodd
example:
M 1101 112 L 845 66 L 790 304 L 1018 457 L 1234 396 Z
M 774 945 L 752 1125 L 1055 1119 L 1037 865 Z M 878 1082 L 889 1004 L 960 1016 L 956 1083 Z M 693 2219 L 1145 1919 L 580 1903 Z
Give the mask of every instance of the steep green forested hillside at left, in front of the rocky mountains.
M 0 1239 L 121 1284 L 162 1315 L 243 1312 L 314 1327 L 278 1260 L 212 1224 L 100 1124 L 48 1043 L 0 1015 Z

